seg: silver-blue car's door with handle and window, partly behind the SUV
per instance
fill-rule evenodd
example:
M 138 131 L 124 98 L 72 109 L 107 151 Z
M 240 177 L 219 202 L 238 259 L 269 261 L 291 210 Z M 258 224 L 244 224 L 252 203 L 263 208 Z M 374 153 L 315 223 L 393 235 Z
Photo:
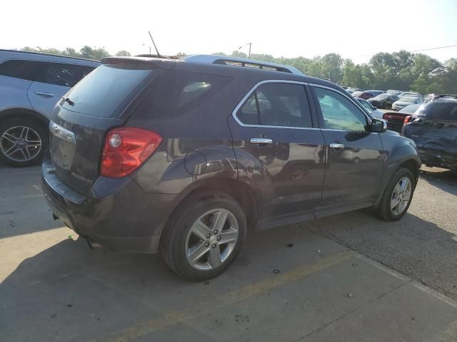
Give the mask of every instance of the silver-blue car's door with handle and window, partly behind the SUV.
M 91 66 L 78 66 L 67 63 L 35 62 L 34 82 L 27 95 L 32 108 L 50 117 L 54 105 L 71 87 L 92 70 Z

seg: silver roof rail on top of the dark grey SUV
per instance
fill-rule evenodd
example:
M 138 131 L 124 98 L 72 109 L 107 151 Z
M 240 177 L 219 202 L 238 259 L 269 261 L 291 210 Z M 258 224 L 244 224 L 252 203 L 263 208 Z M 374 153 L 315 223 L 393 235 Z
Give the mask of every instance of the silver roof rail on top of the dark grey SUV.
M 246 58 L 235 58 L 219 55 L 189 55 L 179 59 L 181 61 L 195 63 L 222 64 L 225 66 L 243 66 L 246 68 L 258 68 L 268 71 L 280 71 L 282 73 L 293 73 L 295 75 L 303 76 L 301 71 L 299 71 L 297 68 L 293 68 L 292 66 L 284 66 L 283 64 L 268 63 Z

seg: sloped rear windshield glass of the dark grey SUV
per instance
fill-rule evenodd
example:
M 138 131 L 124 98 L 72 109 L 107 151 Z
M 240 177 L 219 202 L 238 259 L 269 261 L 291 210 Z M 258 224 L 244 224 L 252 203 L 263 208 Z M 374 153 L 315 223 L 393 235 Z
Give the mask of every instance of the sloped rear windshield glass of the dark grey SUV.
M 151 69 L 102 65 L 89 73 L 68 94 L 65 109 L 102 118 L 117 118 L 144 88 Z

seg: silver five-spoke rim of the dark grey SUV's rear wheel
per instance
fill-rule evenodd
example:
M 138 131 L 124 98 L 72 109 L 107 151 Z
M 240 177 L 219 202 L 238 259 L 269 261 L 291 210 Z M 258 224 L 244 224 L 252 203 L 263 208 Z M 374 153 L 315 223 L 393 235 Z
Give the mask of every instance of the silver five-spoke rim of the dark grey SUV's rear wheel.
M 238 242 L 238 222 L 227 209 L 212 209 L 196 219 L 186 238 L 186 258 L 199 271 L 216 269 Z

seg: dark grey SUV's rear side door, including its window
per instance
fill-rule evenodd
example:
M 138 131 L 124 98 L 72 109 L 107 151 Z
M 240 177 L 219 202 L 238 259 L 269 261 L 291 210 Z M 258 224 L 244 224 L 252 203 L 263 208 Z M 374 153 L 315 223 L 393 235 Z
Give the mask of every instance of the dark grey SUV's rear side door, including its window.
M 324 140 L 306 87 L 263 81 L 229 116 L 238 177 L 258 194 L 259 219 L 313 217 L 321 200 Z

